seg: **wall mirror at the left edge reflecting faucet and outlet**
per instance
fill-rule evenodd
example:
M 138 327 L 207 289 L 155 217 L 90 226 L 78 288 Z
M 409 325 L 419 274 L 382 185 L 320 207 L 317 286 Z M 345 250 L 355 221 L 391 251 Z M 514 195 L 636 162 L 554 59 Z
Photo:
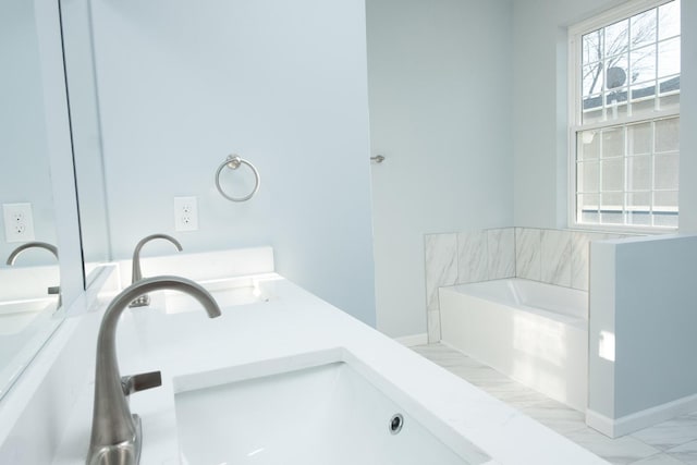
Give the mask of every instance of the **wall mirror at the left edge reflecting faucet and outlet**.
M 34 2 L 0 4 L 0 397 L 60 322 L 60 276 Z

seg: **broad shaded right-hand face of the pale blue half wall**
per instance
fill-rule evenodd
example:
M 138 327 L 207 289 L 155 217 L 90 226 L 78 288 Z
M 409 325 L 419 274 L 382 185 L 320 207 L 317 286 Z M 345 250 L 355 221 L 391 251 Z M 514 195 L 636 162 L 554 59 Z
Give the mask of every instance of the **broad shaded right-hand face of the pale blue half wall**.
M 615 415 L 697 393 L 697 236 L 616 246 Z

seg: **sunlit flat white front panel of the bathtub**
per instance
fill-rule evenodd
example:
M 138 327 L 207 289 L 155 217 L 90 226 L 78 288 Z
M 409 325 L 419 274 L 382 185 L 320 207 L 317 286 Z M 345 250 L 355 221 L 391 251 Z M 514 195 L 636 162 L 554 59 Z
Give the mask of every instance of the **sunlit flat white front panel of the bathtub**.
M 577 411 L 587 404 L 585 329 L 440 290 L 442 341 Z

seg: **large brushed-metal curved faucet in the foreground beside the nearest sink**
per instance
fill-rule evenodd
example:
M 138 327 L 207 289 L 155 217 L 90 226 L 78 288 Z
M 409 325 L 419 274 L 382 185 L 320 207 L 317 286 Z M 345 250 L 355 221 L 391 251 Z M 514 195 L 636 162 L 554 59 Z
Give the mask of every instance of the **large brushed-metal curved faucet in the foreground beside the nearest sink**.
M 161 386 L 159 371 L 121 377 L 117 363 L 117 323 L 119 317 L 138 295 L 170 289 L 196 298 L 210 318 L 220 316 L 220 307 L 200 285 L 179 277 L 146 278 L 124 289 L 109 304 L 97 338 L 97 370 L 91 440 L 87 465 L 137 465 L 140 460 L 140 418 L 132 415 L 127 396 Z

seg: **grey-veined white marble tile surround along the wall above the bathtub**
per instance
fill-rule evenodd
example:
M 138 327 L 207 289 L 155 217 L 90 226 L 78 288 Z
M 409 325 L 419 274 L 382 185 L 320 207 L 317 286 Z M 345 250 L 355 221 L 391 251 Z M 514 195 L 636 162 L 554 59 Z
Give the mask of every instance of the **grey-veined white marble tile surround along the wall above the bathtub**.
M 428 340 L 440 340 L 438 287 L 524 278 L 588 291 L 588 244 L 629 237 L 587 231 L 498 228 L 425 235 Z

